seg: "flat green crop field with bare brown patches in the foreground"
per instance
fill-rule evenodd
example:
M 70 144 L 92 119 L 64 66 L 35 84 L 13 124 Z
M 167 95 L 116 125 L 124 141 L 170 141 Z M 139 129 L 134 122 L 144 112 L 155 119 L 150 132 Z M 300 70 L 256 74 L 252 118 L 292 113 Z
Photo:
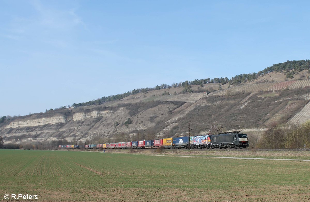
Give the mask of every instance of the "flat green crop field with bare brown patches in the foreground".
M 310 200 L 310 162 L 303 161 L 31 150 L 0 150 L 0 160 L 1 200 Z

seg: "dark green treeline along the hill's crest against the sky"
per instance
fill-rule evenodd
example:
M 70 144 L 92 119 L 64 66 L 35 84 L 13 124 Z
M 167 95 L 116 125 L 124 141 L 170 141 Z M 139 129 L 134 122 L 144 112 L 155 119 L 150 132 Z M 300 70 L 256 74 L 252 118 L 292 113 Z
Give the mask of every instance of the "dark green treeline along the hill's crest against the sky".
M 152 90 L 160 90 L 160 89 L 166 89 L 166 88 L 172 88 L 172 87 L 184 87 L 185 90 L 183 90 L 183 93 L 186 92 L 193 92 L 192 90 L 190 90 L 188 86 L 191 85 L 200 85 L 203 86 L 204 84 L 208 84 L 208 83 L 221 83 L 222 85 L 224 85 L 225 83 L 229 82 L 229 85 L 237 85 L 237 84 L 241 84 L 241 83 L 245 83 L 247 81 L 253 81 L 254 79 L 256 79 L 258 76 L 270 73 L 270 72 L 288 72 L 286 74 L 287 78 L 293 78 L 292 74 L 294 74 L 294 72 L 289 72 L 290 70 L 295 70 L 297 72 L 303 71 L 304 69 L 310 69 L 310 60 L 293 60 L 293 61 L 286 61 L 284 63 L 278 63 L 278 64 L 274 64 L 271 67 L 267 67 L 265 68 L 263 71 L 259 71 L 257 73 L 248 73 L 248 74 L 239 74 L 236 75 L 235 77 L 232 77 L 231 79 L 228 79 L 227 77 L 224 78 L 214 78 L 214 79 L 210 79 L 210 78 L 206 78 L 206 79 L 195 79 L 193 81 L 180 81 L 179 83 L 172 83 L 171 85 L 167 85 L 167 84 L 161 84 L 161 85 L 157 85 L 153 88 L 138 88 L 138 89 L 134 89 L 131 91 L 127 91 L 126 93 L 122 93 L 122 94 L 117 94 L 117 95 L 110 95 L 108 97 L 102 97 L 96 100 L 91 100 L 85 103 L 74 103 L 72 105 L 72 107 L 85 107 L 85 106 L 90 106 L 90 105 L 99 105 L 99 104 L 103 104 L 106 102 L 110 102 L 110 101 L 114 101 L 114 100 L 119 100 L 119 99 L 123 99 L 129 95 L 133 95 L 133 94 L 138 94 L 138 93 L 147 93 L 149 91 Z

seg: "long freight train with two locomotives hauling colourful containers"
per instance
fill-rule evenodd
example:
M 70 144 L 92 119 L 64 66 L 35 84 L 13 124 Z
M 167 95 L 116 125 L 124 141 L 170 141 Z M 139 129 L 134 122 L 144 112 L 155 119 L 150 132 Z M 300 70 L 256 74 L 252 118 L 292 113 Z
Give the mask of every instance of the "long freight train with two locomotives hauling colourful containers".
M 59 148 L 103 148 L 103 149 L 152 149 L 152 148 L 246 148 L 249 146 L 247 134 L 240 131 L 220 133 L 217 135 L 180 136 L 156 140 L 141 140 L 119 143 L 101 143 L 85 145 L 59 145 Z

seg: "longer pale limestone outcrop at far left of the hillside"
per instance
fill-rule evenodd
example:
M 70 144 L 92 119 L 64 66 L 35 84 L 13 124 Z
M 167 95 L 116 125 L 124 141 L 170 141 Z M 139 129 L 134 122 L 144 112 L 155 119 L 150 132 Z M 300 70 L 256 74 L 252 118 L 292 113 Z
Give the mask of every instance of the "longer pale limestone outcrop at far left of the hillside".
M 13 121 L 5 128 L 17 128 L 17 127 L 28 127 L 28 126 L 39 126 L 45 124 L 56 124 L 56 123 L 66 123 L 67 118 L 65 116 L 52 116 L 50 118 L 40 118 L 32 119 L 27 121 Z

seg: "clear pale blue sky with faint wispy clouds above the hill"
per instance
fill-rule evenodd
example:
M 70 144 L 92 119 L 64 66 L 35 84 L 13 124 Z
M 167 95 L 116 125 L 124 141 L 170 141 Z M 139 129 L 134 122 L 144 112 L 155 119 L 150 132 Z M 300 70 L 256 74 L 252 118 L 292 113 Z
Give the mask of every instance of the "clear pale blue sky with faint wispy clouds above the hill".
M 310 59 L 309 1 L 0 1 L 0 116 Z

